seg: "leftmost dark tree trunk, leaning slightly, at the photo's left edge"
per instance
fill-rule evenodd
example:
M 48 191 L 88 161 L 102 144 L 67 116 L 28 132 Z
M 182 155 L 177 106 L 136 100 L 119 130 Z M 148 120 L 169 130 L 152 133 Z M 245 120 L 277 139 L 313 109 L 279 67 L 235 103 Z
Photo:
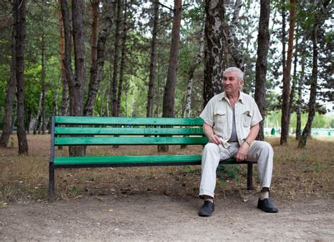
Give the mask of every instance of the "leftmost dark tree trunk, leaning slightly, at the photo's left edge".
M 15 20 L 14 20 L 15 21 Z M 0 138 L 0 146 L 7 147 L 9 137 L 13 130 L 12 110 L 13 95 L 16 91 L 16 27 L 15 22 L 11 34 L 11 77 L 8 80 L 8 89 L 6 93 L 4 128 Z

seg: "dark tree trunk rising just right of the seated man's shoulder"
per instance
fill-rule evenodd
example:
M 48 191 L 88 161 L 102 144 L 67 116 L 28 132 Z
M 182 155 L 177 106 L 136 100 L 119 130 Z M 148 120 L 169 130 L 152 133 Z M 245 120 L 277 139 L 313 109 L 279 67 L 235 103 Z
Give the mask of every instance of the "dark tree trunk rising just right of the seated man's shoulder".
M 270 42 L 269 33 L 270 1 L 261 0 L 259 34 L 257 38 L 257 59 L 255 74 L 255 101 L 262 117 L 266 117 L 266 70 Z M 264 140 L 264 121 L 260 122 L 259 134 L 256 139 Z

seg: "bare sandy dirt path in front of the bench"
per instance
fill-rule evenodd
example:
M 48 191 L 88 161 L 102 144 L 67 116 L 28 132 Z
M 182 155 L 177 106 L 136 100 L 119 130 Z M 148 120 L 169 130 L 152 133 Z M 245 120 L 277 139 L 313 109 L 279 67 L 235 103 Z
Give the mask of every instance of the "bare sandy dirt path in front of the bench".
M 216 200 L 199 217 L 202 200 L 173 196 L 85 196 L 0 209 L 0 241 L 334 241 L 333 200 L 276 201 L 277 214 L 256 209 L 256 196 Z

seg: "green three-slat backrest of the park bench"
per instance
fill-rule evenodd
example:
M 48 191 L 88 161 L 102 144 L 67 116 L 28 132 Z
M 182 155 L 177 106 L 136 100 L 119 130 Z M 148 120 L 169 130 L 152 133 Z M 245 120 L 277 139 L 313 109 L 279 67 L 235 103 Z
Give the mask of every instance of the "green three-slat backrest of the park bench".
M 54 116 L 55 146 L 206 144 L 202 118 Z

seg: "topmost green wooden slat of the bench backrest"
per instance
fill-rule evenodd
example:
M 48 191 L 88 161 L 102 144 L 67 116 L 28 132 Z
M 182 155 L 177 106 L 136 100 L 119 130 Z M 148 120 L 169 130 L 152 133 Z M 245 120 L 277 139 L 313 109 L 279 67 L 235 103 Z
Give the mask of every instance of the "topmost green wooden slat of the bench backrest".
M 184 125 L 202 126 L 202 118 L 178 117 L 75 117 L 55 116 L 56 125 Z

